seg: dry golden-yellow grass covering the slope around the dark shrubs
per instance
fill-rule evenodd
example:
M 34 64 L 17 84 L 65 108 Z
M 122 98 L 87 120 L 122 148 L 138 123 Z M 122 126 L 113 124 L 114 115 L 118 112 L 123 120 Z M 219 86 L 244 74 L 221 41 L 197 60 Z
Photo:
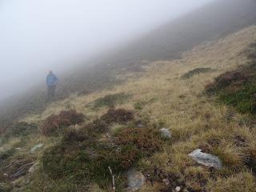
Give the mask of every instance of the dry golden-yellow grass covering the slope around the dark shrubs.
M 103 107 L 91 110 L 88 103 L 107 94 L 132 94 L 133 96 L 120 107 L 133 110 L 135 103 L 153 101 L 142 106 L 138 113 L 142 118 L 150 118 L 150 125 L 168 127 L 173 133 L 173 145 L 165 146 L 164 152 L 144 159 L 146 165 L 157 166 L 166 172 L 181 175 L 187 186 L 198 191 L 202 189 L 202 182 L 205 180 L 208 181 L 204 186 L 207 191 L 255 191 L 255 178 L 245 167 L 245 149 L 236 145 L 236 138 L 243 137 L 249 143 L 246 150 L 255 150 L 255 129 L 250 130 L 246 126 L 241 126 L 242 119 L 245 118 L 242 114 L 234 114 L 232 120 L 228 121 L 226 117 L 232 109 L 217 105 L 213 98 L 206 98 L 202 94 L 206 83 L 212 82 L 219 74 L 246 64 L 246 56 L 240 53 L 255 41 L 256 26 L 251 26 L 218 42 L 198 46 L 182 54 L 180 59 L 153 62 L 145 67 L 145 72 L 126 74 L 126 77 L 122 77 L 126 82 L 114 86 L 113 89 L 81 97 L 72 95 L 61 102 L 52 103 L 42 114 L 27 116 L 22 121 L 40 123 L 50 114 L 58 114 L 59 111 L 70 108 L 86 114 L 89 119 L 94 119 L 107 109 Z M 211 67 L 215 70 L 195 75 L 190 79 L 180 79 L 182 74 L 197 67 Z M 45 138 L 40 134 L 30 135 L 26 142 L 23 141 L 22 150 L 15 155 L 23 154 L 25 158 L 30 158 L 28 150 L 34 144 L 44 142 L 44 149 L 47 149 L 48 146 L 54 146 L 59 139 Z M 209 141 L 213 139 L 218 139 L 218 146 L 209 145 Z M 12 138 L 0 148 L 0 151 L 8 150 L 21 142 L 21 138 Z M 214 173 L 216 179 L 210 177 L 210 170 L 197 166 L 188 157 L 187 154 L 199 146 L 217 154 L 224 162 L 224 169 Z M 35 156 L 40 159 L 42 153 L 43 150 Z M 34 181 L 42 179 L 35 175 Z M 50 178 L 44 179 L 49 180 L 49 185 L 58 185 L 50 181 Z M 162 183 L 154 186 L 148 184 L 141 191 L 158 191 L 161 186 Z M 33 187 L 30 191 L 39 191 L 45 186 Z

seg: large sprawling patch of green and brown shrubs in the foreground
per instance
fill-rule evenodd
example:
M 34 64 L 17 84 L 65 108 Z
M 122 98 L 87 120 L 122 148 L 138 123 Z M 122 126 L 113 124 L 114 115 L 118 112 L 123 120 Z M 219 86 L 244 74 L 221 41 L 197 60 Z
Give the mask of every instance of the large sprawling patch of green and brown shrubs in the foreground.
M 125 171 L 141 158 L 162 150 L 164 143 L 158 130 L 150 128 L 123 128 L 113 139 L 99 140 L 112 122 L 126 123 L 133 118 L 130 110 L 109 110 L 80 130 L 66 130 L 62 142 L 43 154 L 44 171 L 53 180 L 78 185 L 83 180 L 107 189 L 112 182 L 110 167 L 117 177 L 117 191 L 122 191 Z

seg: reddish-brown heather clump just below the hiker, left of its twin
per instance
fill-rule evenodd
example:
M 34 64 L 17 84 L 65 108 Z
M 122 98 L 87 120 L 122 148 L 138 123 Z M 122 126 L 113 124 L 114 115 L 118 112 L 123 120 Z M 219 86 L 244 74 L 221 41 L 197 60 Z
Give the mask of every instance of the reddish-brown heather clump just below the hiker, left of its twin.
M 84 115 L 76 110 L 61 111 L 58 115 L 51 115 L 46 118 L 40 131 L 43 135 L 56 134 L 58 130 L 67 126 L 81 124 L 84 122 Z

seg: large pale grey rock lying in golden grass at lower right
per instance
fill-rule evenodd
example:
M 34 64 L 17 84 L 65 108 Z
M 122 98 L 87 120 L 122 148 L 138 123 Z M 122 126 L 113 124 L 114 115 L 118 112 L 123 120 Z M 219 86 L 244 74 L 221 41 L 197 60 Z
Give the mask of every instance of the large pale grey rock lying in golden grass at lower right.
M 192 157 L 194 161 L 204 166 L 214 167 L 218 170 L 222 169 L 222 162 L 214 154 L 205 154 L 202 153 L 202 150 L 197 149 L 189 154 L 189 156 Z

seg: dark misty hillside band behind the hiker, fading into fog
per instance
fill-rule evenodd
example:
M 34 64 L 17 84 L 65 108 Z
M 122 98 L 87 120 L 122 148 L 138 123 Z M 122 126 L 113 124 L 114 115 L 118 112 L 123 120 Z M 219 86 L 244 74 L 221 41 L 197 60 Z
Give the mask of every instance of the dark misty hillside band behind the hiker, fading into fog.
M 74 92 L 92 93 L 106 86 L 122 82 L 116 74 L 141 70 L 140 66 L 149 61 L 178 58 L 183 51 L 190 50 L 202 42 L 222 38 L 245 26 L 255 24 L 256 2 L 254 0 L 218 0 L 208 6 L 178 18 L 165 26 L 110 50 L 86 62 L 93 66 L 79 66 L 68 74 L 61 75 L 58 98 L 66 98 Z M 58 72 L 58 71 L 57 71 Z M 0 114 L 14 119 L 24 114 L 42 111 L 45 102 L 45 87 L 30 90 L 20 97 L 2 102 Z

